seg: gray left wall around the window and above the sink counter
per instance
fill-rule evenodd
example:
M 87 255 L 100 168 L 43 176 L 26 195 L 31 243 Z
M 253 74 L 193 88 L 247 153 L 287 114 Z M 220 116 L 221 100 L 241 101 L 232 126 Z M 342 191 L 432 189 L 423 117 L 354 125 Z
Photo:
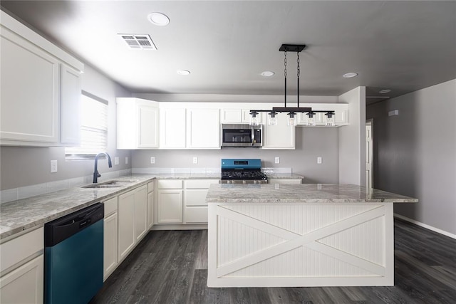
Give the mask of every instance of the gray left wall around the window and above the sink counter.
M 100 161 L 98 171 L 103 173 L 129 169 L 131 162 L 125 164 L 125 157 L 131 159 L 130 151 L 116 150 L 115 148 L 115 98 L 130 97 L 131 93 L 88 65 L 85 67 L 82 79 L 83 90 L 108 100 L 108 153 L 111 157 L 120 157 L 119 165 L 113 164 L 113 168 L 108 168 L 105 160 Z M 56 173 L 50 172 L 51 159 L 58 161 L 58 172 Z M 0 160 L 1 190 L 93 174 L 93 160 L 66 161 L 64 147 L 1 146 Z

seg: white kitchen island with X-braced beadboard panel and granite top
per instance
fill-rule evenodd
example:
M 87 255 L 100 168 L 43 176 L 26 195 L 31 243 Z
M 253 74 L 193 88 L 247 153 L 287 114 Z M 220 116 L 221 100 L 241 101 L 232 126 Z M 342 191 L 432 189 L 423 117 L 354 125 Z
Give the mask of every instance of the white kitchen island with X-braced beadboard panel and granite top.
M 393 203 L 353 184 L 214 184 L 208 287 L 394 285 Z

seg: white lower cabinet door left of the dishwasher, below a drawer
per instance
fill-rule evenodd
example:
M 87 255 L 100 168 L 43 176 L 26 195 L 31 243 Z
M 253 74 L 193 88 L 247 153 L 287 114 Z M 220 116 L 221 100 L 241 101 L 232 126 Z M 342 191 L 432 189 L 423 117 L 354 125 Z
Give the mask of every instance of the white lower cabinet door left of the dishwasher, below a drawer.
M 43 255 L 0 278 L 0 303 L 43 303 Z

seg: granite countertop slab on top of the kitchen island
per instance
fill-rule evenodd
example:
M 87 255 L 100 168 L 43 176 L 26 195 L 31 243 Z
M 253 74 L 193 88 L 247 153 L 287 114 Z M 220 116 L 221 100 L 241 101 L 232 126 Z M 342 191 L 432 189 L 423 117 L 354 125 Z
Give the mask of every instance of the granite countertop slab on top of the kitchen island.
M 415 203 L 418 199 L 354 184 L 212 184 L 208 203 Z

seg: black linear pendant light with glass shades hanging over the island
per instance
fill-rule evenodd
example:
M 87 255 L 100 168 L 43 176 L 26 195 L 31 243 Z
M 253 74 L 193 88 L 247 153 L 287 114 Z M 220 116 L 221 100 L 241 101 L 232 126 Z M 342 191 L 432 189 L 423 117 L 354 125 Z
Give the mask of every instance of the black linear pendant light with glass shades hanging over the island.
M 269 125 L 277 125 L 277 117 L 276 117 L 277 113 L 288 112 L 288 114 L 287 114 L 287 115 L 289 115 L 288 125 L 290 125 L 290 126 L 296 126 L 297 113 L 307 113 L 307 115 L 309 115 L 309 121 L 313 121 L 312 125 L 315 125 L 315 118 L 314 118 L 315 112 L 326 112 L 326 115 L 328 116 L 326 125 L 329 125 L 330 122 L 332 123 L 332 125 L 334 125 L 334 122 L 333 122 L 334 121 L 334 118 L 333 118 L 334 112 L 333 111 L 313 111 L 312 108 L 309 108 L 309 107 L 306 107 L 306 108 L 299 107 L 299 77 L 301 75 L 301 68 L 299 66 L 299 53 L 301 53 L 301 51 L 303 51 L 304 48 L 306 48 L 305 44 L 282 44 L 281 45 L 281 47 L 279 48 L 279 51 L 284 52 L 284 107 L 274 107 L 274 108 L 272 108 L 272 110 L 250 110 L 250 115 L 252 115 L 251 120 L 250 120 L 251 125 L 259 124 L 258 117 L 257 117 L 257 115 L 259 115 L 259 112 L 268 112 L 269 117 L 268 117 L 267 122 Z M 296 76 L 298 79 L 298 83 L 297 83 L 297 95 L 296 95 L 297 106 L 295 108 L 286 106 L 286 73 L 287 73 L 286 53 L 287 52 L 296 53 L 296 63 L 297 63 Z

